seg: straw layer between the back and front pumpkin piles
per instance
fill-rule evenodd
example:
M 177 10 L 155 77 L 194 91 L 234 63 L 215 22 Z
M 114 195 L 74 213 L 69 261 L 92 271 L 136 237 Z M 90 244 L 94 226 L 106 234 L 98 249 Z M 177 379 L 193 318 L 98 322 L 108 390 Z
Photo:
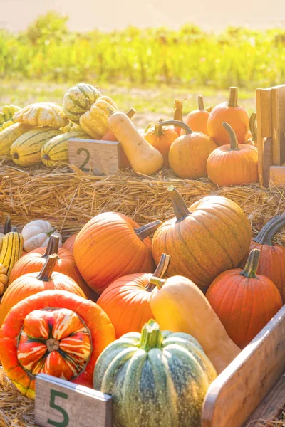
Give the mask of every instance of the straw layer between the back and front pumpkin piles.
M 46 219 L 68 237 L 104 211 L 120 211 L 140 224 L 165 221 L 173 216 L 169 185 L 181 192 L 188 205 L 209 194 L 236 201 L 249 217 L 254 235 L 269 218 L 285 211 L 285 190 L 263 189 L 258 184 L 218 189 L 207 179 L 177 179 L 167 170 L 155 176 L 120 171 L 102 177 L 85 174 L 76 167 L 26 170 L 0 164 L 0 223 L 4 223 L 6 214 L 16 226 Z M 276 241 L 285 244 L 285 234 L 277 236 Z

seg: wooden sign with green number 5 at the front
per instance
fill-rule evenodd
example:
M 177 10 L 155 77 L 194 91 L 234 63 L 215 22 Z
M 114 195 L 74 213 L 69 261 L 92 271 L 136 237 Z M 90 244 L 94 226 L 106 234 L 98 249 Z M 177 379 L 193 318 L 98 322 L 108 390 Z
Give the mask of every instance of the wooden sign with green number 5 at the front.
M 112 398 L 55 376 L 36 376 L 35 422 L 41 427 L 112 427 Z

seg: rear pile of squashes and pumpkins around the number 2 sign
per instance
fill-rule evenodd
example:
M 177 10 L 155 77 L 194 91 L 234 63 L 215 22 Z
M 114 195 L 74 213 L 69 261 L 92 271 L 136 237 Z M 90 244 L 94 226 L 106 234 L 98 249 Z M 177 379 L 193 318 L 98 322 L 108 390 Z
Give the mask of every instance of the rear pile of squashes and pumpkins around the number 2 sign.
M 182 101 L 176 100 L 175 120 L 137 130 L 133 108 L 120 112 L 98 88 L 78 83 L 64 95 L 62 107 L 51 102 L 5 106 L 0 157 L 22 167 L 41 162 L 57 167 L 68 163 L 68 139 L 102 139 L 119 141 L 123 166 L 140 174 L 170 167 L 180 178 L 209 176 L 218 186 L 257 181 L 256 113 L 249 120 L 237 103 L 237 88 L 230 88 L 229 101 L 214 109 L 204 109 L 202 96 L 198 105 L 183 121 Z

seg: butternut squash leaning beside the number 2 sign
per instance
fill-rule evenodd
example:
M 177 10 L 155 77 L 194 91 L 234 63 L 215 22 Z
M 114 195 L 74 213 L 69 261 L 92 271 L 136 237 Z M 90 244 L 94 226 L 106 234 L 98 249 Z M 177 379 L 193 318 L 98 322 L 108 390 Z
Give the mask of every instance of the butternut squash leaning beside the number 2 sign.
M 162 167 L 162 154 L 145 141 L 125 113 L 110 112 L 108 125 L 122 144 L 134 172 L 152 175 Z

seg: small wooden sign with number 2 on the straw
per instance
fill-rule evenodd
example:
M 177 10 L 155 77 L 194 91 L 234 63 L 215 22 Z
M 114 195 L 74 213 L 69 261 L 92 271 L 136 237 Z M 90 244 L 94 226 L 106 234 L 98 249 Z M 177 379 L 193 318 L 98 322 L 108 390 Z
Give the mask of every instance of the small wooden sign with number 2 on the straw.
M 123 166 L 120 142 L 94 139 L 68 139 L 68 163 L 83 172 L 93 170 L 95 175 L 109 175 Z

